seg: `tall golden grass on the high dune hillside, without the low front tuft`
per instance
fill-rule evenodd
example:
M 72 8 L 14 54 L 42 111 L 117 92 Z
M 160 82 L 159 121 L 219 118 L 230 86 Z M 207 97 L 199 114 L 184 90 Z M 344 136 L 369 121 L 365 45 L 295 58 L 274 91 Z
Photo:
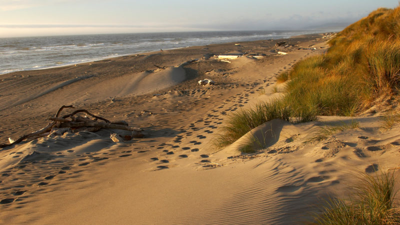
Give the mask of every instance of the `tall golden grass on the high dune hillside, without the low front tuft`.
M 379 8 L 329 41 L 324 55 L 298 62 L 285 101 L 319 115 L 354 115 L 400 87 L 400 6 Z M 286 78 L 287 77 L 287 78 Z

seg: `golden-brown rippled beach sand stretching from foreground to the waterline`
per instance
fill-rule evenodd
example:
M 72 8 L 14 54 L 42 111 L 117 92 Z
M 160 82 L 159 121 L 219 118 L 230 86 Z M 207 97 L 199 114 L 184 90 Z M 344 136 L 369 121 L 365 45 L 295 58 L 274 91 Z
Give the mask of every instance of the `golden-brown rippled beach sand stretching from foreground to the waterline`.
M 115 143 L 113 130 L 65 133 L 0 150 L 0 222 L 36 224 L 293 224 L 327 194 L 343 196 L 356 171 L 398 166 L 398 128 L 376 115 L 272 120 L 256 154 L 239 142 L 212 146 L 229 113 L 278 97 L 280 71 L 323 53 L 322 35 L 212 44 L 1 76 L 0 140 L 43 127 L 73 104 L 143 129 Z M 309 48 L 314 49 L 298 49 Z M 271 51 L 274 49 L 273 51 Z M 277 51 L 287 52 L 278 55 Z M 229 62 L 218 55 L 239 55 Z M 256 57 L 254 57 L 256 56 Z M 262 56 L 262 57 L 261 57 Z M 198 85 L 210 78 L 215 85 Z M 283 88 L 283 87 L 282 87 Z M 359 127 L 307 141 L 320 127 Z M 245 138 L 245 136 L 243 137 Z M 323 202 L 321 202 L 323 203 Z

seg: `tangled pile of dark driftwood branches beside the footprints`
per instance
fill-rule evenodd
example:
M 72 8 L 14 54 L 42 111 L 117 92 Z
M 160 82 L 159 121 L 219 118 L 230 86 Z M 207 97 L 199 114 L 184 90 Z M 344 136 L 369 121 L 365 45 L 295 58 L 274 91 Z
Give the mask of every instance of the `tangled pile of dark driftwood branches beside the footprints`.
M 69 114 L 60 116 L 61 111 L 64 108 L 73 108 L 72 105 L 62 105 L 58 111 L 55 113 L 54 117 L 50 117 L 50 123 L 48 123 L 45 127 L 34 131 L 32 133 L 20 136 L 18 139 L 13 141 L 12 143 L 7 144 L 0 144 L 0 148 L 11 146 L 13 144 L 17 144 L 25 139 L 35 139 L 38 137 L 43 136 L 55 136 L 55 135 L 62 135 L 64 132 L 72 131 L 73 133 L 79 131 L 90 131 L 95 132 L 101 128 L 105 129 L 121 129 L 121 130 L 128 130 L 132 131 L 132 137 L 143 137 L 141 133 L 141 129 L 138 127 L 130 127 L 127 123 L 121 123 L 120 121 L 117 122 L 118 124 L 111 123 L 108 119 L 103 117 L 94 115 L 87 111 L 86 109 L 78 109 Z M 82 117 L 80 115 L 76 115 L 77 113 L 86 113 L 87 115 L 93 117 L 94 119 L 90 119 L 88 117 Z M 75 116 L 76 115 L 76 116 Z M 98 121 L 102 120 L 102 121 Z

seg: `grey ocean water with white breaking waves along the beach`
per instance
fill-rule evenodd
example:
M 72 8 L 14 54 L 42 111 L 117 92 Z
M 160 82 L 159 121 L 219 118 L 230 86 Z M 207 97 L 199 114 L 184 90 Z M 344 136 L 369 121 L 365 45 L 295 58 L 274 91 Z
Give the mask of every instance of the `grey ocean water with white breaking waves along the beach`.
M 329 30 L 206 31 L 0 38 L 0 74 L 94 61 L 160 48 L 288 38 L 327 31 Z

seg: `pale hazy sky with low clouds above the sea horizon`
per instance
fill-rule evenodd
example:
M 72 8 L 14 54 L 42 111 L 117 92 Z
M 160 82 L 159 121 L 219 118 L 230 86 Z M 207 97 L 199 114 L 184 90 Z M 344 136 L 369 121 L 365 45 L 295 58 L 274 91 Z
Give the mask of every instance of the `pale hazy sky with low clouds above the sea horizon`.
M 0 0 L 0 37 L 347 25 L 398 0 Z

